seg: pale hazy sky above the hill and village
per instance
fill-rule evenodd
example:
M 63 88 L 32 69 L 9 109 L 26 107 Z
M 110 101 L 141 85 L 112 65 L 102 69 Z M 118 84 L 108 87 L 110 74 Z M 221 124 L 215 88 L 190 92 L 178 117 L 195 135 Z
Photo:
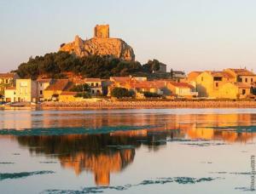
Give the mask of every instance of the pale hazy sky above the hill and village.
M 0 72 L 97 24 L 131 45 L 136 60 L 181 71 L 256 71 L 255 0 L 0 0 Z

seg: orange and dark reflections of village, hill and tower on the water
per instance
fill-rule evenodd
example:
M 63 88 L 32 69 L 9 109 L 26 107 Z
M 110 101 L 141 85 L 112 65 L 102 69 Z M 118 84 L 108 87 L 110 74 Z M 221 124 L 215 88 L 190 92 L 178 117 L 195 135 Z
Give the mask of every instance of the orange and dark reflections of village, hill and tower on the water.
M 26 117 L 27 115 L 27 117 Z M 11 122 L 14 119 L 15 122 Z M 25 119 L 25 120 L 24 120 Z M 26 122 L 24 122 L 26 121 Z M 148 125 L 152 128 L 145 129 Z M 241 128 L 256 126 L 255 114 L 115 114 L 81 111 L 24 111 L 20 117 L 9 112 L 0 118 L 3 129 L 63 127 L 104 128 L 109 126 L 142 126 L 133 130 L 117 130 L 108 134 L 26 135 L 6 136 L 28 147 L 31 153 L 55 157 L 64 168 L 75 174 L 93 172 L 96 185 L 109 185 L 110 175 L 134 161 L 142 145 L 159 151 L 167 141 L 224 140 L 247 143 L 255 134 Z M 222 127 L 227 127 L 223 129 Z M 240 126 L 240 130 L 236 127 Z M 235 128 L 235 129 L 234 129 Z M 1 138 L 1 136 L 0 136 Z

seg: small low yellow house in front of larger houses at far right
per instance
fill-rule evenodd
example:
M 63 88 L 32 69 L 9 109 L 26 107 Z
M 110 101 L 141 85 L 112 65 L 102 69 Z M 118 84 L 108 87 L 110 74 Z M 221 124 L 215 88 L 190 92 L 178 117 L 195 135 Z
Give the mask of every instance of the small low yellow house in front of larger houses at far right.
M 245 83 L 224 83 L 219 88 L 218 98 L 245 99 L 251 94 L 251 87 Z

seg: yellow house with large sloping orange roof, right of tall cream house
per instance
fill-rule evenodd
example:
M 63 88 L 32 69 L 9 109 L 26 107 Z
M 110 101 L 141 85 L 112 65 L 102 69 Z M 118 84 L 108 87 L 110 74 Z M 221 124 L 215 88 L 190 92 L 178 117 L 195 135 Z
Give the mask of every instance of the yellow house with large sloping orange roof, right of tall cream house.
M 55 79 L 44 89 L 44 100 L 59 100 L 59 95 L 72 87 L 68 79 Z

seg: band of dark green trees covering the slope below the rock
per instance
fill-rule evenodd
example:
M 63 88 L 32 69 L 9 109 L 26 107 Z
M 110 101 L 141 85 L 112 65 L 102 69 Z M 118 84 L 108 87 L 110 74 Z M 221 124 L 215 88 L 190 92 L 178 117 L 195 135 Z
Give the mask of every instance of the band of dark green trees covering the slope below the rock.
M 78 58 L 73 54 L 60 51 L 44 56 L 30 58 L 20 64 L 16 72 L 20 77 L 36 79 L 40 75 L 52 78 L 64 78 L 65 72 L 73 72 L 83 77 L 108 78 L 113 76 L 147 76 L 160 68 L 158 60 L 148 60 L 141 65 L 138 61 L 125 61 L 111 56 L 90 55 Z

